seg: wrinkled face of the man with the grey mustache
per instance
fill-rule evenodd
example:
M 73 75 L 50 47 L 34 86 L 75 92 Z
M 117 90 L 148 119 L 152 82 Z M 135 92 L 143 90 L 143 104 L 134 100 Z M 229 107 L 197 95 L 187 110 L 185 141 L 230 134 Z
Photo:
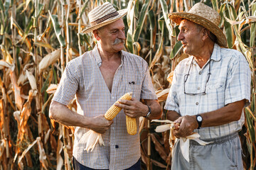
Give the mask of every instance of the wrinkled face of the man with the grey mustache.
M 125 33 L 122 18 L 97 30 L 100 44 L 107 52 L 119 52 L 124 48 Z

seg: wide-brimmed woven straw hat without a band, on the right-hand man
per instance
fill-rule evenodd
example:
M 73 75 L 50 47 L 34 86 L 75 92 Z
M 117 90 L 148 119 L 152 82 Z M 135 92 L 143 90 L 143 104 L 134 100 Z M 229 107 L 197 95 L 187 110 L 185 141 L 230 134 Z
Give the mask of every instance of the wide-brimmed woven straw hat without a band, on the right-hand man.
M 203 3 L 197 3 L 187 13 L 170 13 L 169 18 L 178 25 L 183 18 L 193 21 L 210 30 L 210 32 L 217 37 L 218 45 L 221 47 L 227 46 L 227 39 L 225 38 L 223 31 L 218 28 L 220 15 L 213 8 L 210 8 L 210 6 L 206 6 Z

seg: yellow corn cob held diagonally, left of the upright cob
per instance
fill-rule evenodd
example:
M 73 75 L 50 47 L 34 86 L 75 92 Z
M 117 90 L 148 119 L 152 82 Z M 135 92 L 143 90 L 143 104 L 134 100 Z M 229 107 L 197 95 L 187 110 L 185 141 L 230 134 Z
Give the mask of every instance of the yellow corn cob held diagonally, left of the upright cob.
M 127 100 L 130 101 L 132 99 L 132 92 L 129 92 L 127 94 L 124 94 L 124 96 L 122 96 L 121 98 L 119 98 L 119 100 Z M 116 103 L 120 103 L 119 101 L 116 101 Z M 107 110 L 107 112 L 105 113 L 104 117 L 107 120 L 112 120 L 114 117 L 117 116 L 117 114 L 122 110 L 122 108 L 119 108 L 117 106 L 114 106 L 114 104 L 109 108 L 109 110 Z

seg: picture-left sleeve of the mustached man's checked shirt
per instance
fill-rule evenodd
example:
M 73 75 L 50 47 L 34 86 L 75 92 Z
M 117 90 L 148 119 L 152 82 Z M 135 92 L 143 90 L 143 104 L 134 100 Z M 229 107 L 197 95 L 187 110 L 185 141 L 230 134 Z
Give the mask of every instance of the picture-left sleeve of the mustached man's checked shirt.
M 58 89 L 53 96 L 53 101 L 62 103 L 67 106 L 68 103 L 75 98 L 75 94 L 78 90 L 78 68 L 75 67 L 74 62 L 70 61 L 65 67 L 63 76 L 60 79 Z

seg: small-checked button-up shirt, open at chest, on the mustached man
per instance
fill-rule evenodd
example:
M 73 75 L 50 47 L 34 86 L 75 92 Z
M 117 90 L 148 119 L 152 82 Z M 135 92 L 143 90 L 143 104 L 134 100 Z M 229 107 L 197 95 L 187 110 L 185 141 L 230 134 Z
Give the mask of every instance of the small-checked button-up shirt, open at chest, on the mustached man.
M 94 117 L 106 113 L 115 101 L 130 91 L 137 100 L 157 99 L 146 61 L 124 51 L 121 55 L 122 62 L 114 74 L 111 93 L 100 72 L 102 60 L 96 45 L 94 50 L 85 52 L 67 64 L 53 101 L 68 105 L 76 97 L 77 112 Z M 127 133 L 123 110 L 114 118 L 110 129 L 102 135 L 105 146 L 97 144 L 93 152 L 85 151 L 85 142 L 80 141 L 87 130 L 75 128 L 73 156 L 80 164 L 92 169 L 127 169 L 141 157 L 139 132 L 136 135 Z

